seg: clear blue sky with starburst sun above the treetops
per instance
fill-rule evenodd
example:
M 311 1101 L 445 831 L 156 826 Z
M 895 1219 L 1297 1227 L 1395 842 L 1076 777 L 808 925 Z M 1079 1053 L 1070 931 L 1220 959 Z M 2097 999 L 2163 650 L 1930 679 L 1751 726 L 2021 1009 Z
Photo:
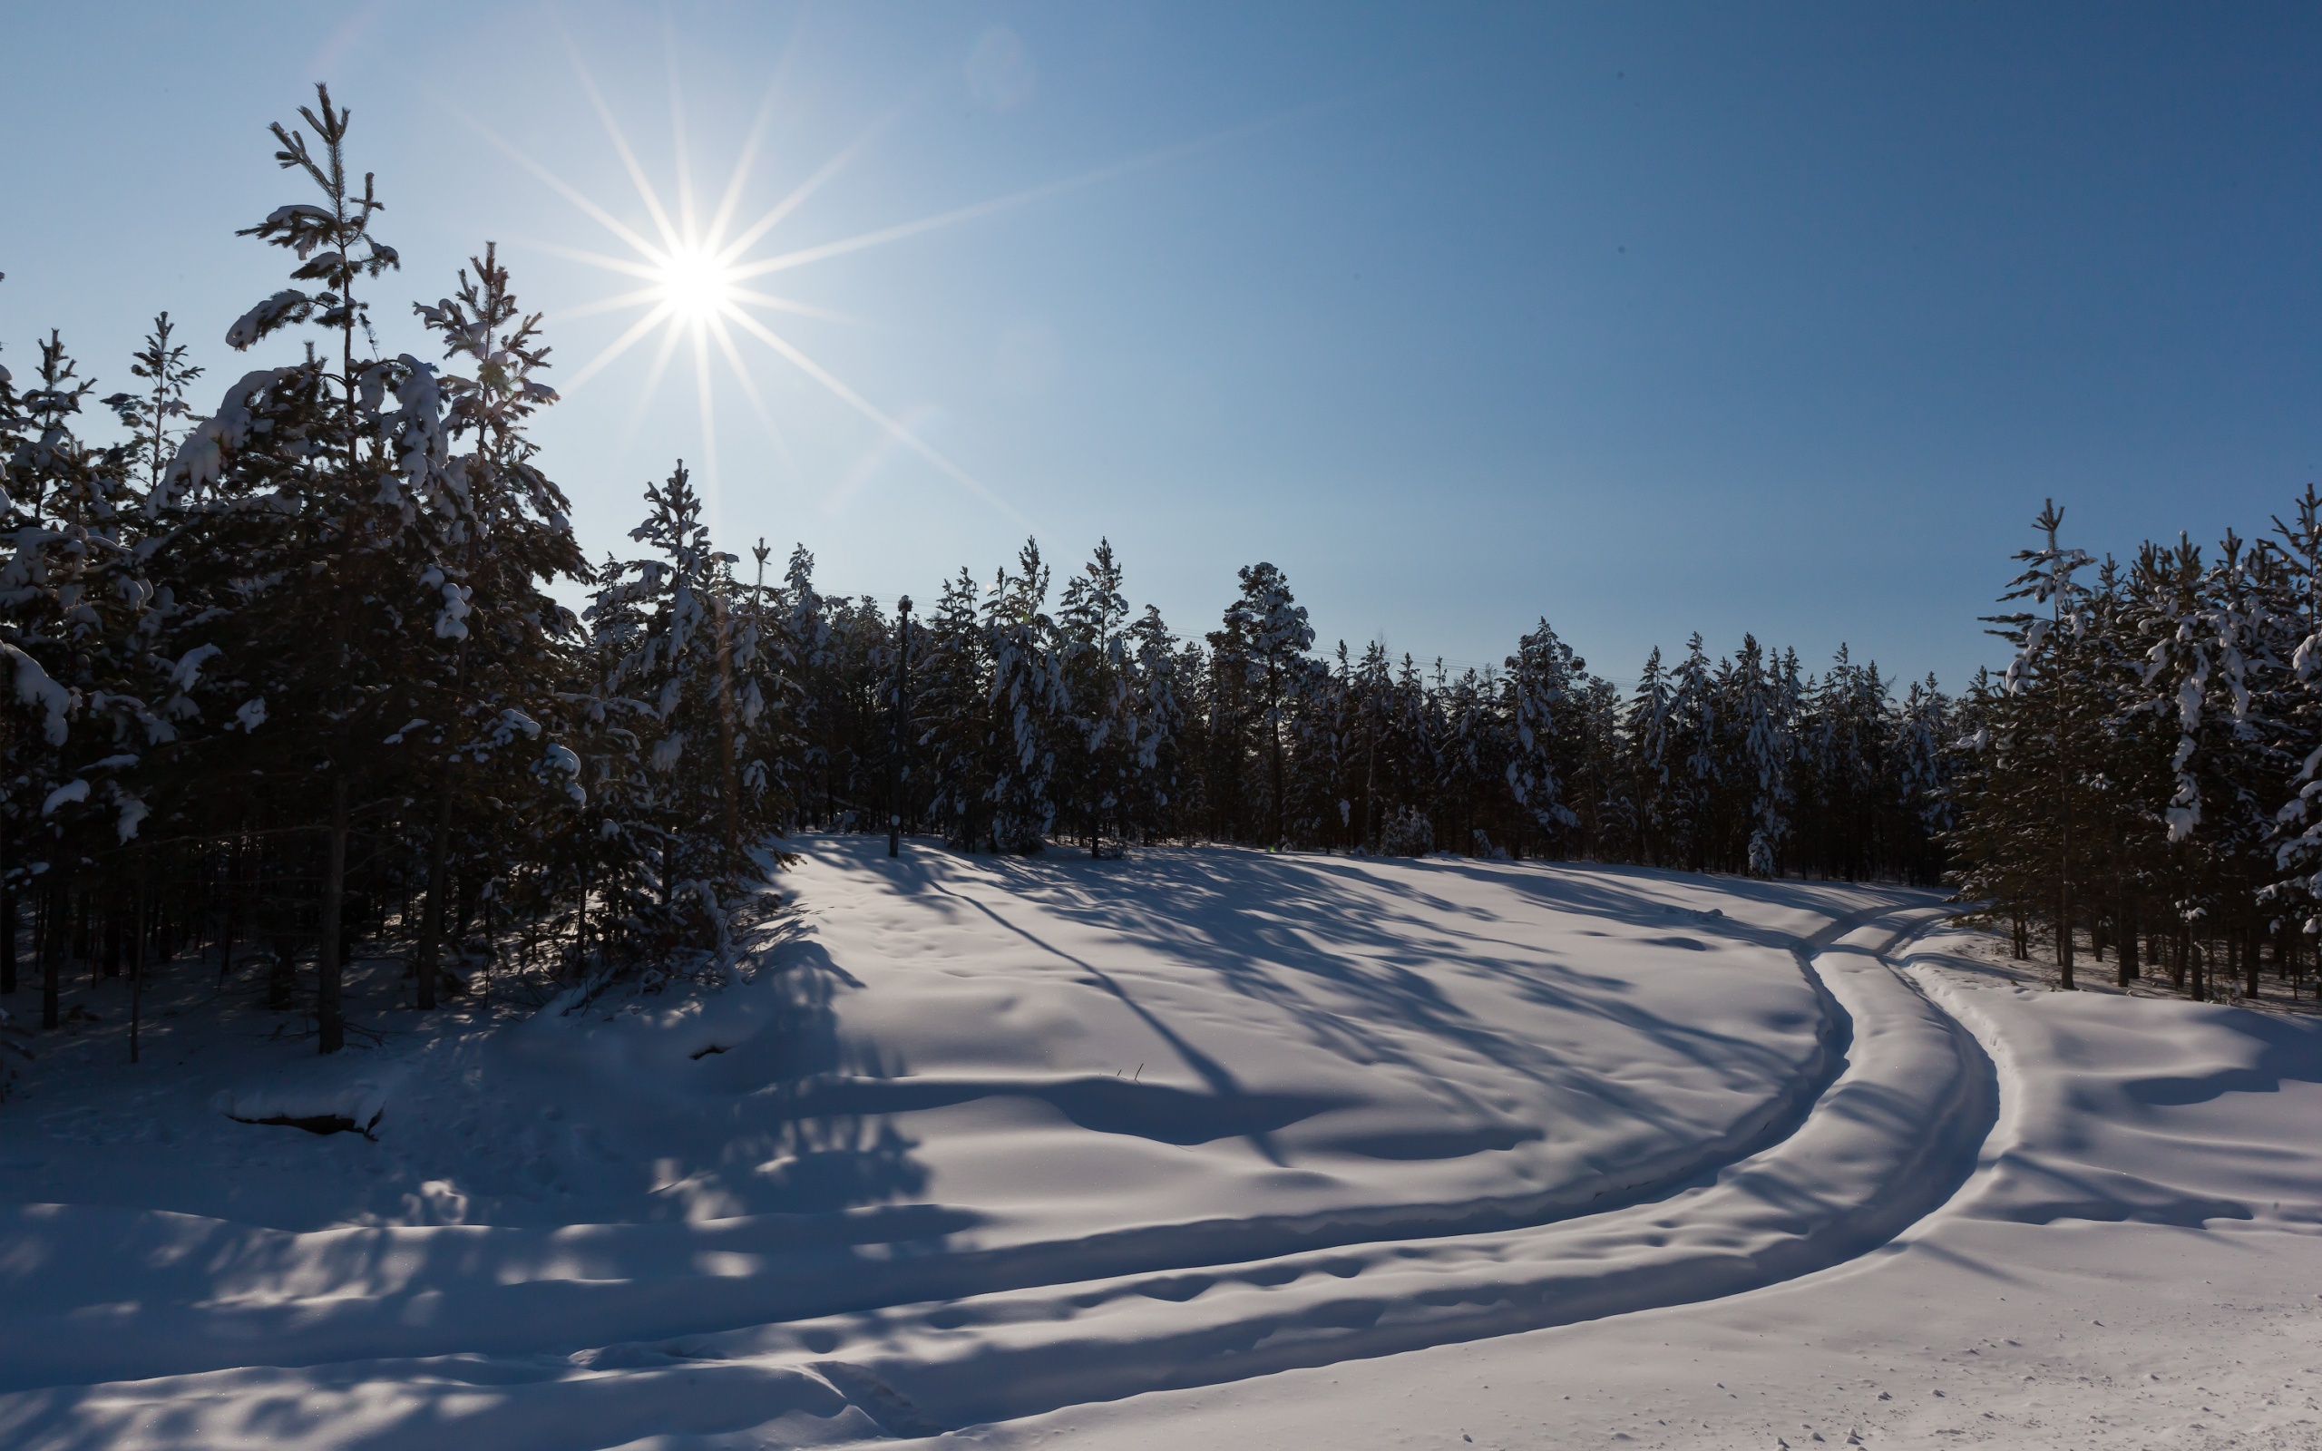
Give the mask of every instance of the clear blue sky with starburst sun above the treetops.
M 304 200 L 265 125 L 325 79 L 383 341 L 497 239 L 569 385 L 655 286 L 574 253 L 666 251 L 604 116 L 680 239 L 764 116 L 724 234 L 794 207 L 729 267 L 789 265 L 717 286 L 854 402 L 657 325 L 541 427 L 597 555 L 683 455 L 727 548 L 887 601 L 1110 536 L 1187 634 L 1272 560 L 1326 645 L 1957 685 L 2041 497 L 2127 550 L 2317 478 L 2317 77 L 2262 5 L 26 5 L 0 344 L 123 385 L 167 306 L 200 392 L 265 364 L 235 228 Z

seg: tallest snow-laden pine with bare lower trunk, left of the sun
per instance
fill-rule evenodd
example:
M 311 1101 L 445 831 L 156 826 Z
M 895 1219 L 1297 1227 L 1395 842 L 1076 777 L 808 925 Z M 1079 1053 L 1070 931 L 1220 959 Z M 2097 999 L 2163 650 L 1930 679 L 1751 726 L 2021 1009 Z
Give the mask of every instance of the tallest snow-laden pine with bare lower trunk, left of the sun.
M 309 346 L 304 362 L 246 374 L 179 448 L 165 504 L 179 490 L 209 490 L 221 504 L 174 541 L 183 573 L 209 569 L 241 580 L 223 620 L 188 618 L 188 631 L 207 631 L 190 648 L 223 652 L 225 669 L 248 683 L 237 713 L 244 741 L 274 713 L 279 724 L 267 748 L 239 755 L 262 773 L 269 815 L 304 817 L 320 836 L 311 933 L 318 1040 L 330 1054 L 346 1040 L 348 840 L 358 815 L 376 813 L 399 789 L 381 775 L 383 761 L 369 748 L 409 720 L 397 713 L 409 708 L 418 641 L 404 629 L 411 525 L 402 488 L 409 469 L 434 467 L 441 399 L 420 360 L 360 355 L 372 348 L 372 325 L 358 286 L 399 260 L 372 234 L 383 211 L 374 179 L 365 174 L 358 190 L 348 172 L 348 111 L 318 86 L 316 104 L 300 116 L 316 139 L 276 123 L 274 160 L 304 176 L 316 200 L 276 207 L 241 234 L 290 251 L 290 281 L 302 286 L 246 311 L 225 341 L 246 351 L 307 323 L 323 332 L 325 346 L 334 344 L 337 367 Z M 385 409 L 388 397 L 397 409 Z M 262 416 L 251 411 L 253 402 Z M 288 439 L 295 443 L 286 446 Z M 190 555 L 202 550 L 209 553 L 197 564 Z

